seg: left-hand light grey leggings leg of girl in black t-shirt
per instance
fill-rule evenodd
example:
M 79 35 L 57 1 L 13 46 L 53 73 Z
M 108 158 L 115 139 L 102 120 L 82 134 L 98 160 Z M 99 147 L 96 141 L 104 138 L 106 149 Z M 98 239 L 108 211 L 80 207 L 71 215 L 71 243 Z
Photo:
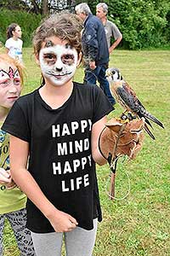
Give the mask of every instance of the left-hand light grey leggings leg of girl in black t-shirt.
M 31 237 L 37 256 L 61 256 L 63 233 L 38 234 L 31 232 Z

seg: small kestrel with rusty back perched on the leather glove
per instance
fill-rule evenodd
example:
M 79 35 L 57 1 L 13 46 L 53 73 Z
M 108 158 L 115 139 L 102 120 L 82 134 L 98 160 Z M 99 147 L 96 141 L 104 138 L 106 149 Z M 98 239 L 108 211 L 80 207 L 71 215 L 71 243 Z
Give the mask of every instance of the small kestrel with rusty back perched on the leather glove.
M 157 125 L 161 126 L 161 128 L 164 128 L 161 121 L 156 119 L 155 116 L 153 116 L 144 108 L 144 105 L 139 101 L 134 90 L 122 78 L 122 75 L 118 68 L 108 68 L 106 70 L 106 78 L 110 83 L 111 92 L 114 94 L 114 96 L 116 96 L 116 101 L 119 102 L 122 105 L 122 108 L 125 109 L 125 113 L 130 112 L 138 116 L 139 119 L 144 117 L 144 130 L 150 135 L 152 139 L 155 139 L 148 125 L 150 125 L 150 127 L 152 128 L 152 125 L 150 124 L 151 120 Z M 127 114 L 127 116 L 129 116 L 129 114 Z

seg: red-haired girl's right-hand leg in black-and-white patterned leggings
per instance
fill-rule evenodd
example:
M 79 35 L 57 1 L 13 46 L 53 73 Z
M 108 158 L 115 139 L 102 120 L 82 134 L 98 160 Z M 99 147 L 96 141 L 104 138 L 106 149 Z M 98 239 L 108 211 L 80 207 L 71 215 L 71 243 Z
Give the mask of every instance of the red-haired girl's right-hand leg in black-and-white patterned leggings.
M 14 236 L 21 256 L 35 256 L 31 232 L 26 228 L 26 209 L 6 214 L 8 222 L 14 230 Z

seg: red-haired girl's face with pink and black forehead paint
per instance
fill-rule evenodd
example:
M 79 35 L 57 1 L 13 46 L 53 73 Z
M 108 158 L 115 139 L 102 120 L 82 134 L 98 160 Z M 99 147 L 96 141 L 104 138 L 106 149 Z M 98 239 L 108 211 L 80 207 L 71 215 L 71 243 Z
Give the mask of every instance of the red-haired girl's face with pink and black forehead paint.
M 19 98 L 21 79 L 18 69 L 8 62 L 0 61 L 0 107 L 11 108 Z

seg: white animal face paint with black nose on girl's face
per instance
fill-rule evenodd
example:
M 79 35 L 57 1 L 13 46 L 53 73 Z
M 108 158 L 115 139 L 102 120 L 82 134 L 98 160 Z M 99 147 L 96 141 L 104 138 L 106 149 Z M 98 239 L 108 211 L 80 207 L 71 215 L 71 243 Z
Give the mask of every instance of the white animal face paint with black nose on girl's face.
M 70 45 L 51 45 L 40 50 L 42 74 L 54 85 L 67 83 L 77 69 L 77 50 Z

